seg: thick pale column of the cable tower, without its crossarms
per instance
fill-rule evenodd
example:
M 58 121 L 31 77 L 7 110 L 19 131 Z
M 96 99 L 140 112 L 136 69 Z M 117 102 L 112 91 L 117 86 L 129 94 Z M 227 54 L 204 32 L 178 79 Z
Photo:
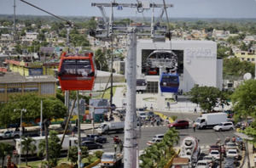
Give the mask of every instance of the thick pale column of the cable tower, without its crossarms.
M 128 34 L 126 73 L 127 108 L 125 115 L 125 168 L 137 167 L 137 117 L 136 117 L 136 74 L 137 74 L 137 34 L 132 28 Z

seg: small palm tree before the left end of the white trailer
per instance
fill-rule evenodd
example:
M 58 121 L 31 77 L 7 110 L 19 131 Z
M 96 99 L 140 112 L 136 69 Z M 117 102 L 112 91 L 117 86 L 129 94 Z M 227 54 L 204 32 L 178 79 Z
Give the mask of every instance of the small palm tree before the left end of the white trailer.
M 22 137 L 22 142 L 21 142 L 21 146 L 22 146 L 22 151 L 26 152 L 26 165 L 27 165 L 27 155 L 29 152 L 31 152 L 31 154 L 34 154 L 34 152 L 37 149 L 37 146 L 34 144 L 35 140 L 32 139 L 32 137 Z

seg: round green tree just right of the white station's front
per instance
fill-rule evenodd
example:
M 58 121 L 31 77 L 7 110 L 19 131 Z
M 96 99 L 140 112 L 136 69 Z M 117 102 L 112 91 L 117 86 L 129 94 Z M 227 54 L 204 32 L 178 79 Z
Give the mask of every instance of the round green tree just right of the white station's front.
M 191 102 L 199 104 L 201 109 L 212 111 L 217 104 L 228 104 L 226 95 L 216 87 L 196 86 L 189 92 Z

